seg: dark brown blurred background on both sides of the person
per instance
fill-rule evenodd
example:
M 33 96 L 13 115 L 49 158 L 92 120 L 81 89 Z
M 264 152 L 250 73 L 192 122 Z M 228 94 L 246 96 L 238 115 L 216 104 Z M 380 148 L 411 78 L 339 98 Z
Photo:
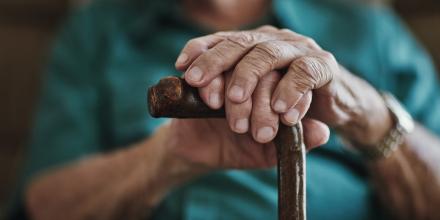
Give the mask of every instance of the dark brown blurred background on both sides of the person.
M 67 12 L 87 0 L 0 1 L 0 219 L 22 164 L 42 70 Z M 440 67 L 440 1 L 395 0 L 399 12 Z

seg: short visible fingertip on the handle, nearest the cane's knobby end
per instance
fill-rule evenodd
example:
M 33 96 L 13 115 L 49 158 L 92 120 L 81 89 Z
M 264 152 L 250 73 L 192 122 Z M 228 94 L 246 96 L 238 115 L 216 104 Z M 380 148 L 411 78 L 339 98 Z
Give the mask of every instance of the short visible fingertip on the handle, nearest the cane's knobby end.
M 202 100 L 212 109 L 219 109 L 224 101 L 224 76 L 217 76 L 207 86 L 199 88 Z

